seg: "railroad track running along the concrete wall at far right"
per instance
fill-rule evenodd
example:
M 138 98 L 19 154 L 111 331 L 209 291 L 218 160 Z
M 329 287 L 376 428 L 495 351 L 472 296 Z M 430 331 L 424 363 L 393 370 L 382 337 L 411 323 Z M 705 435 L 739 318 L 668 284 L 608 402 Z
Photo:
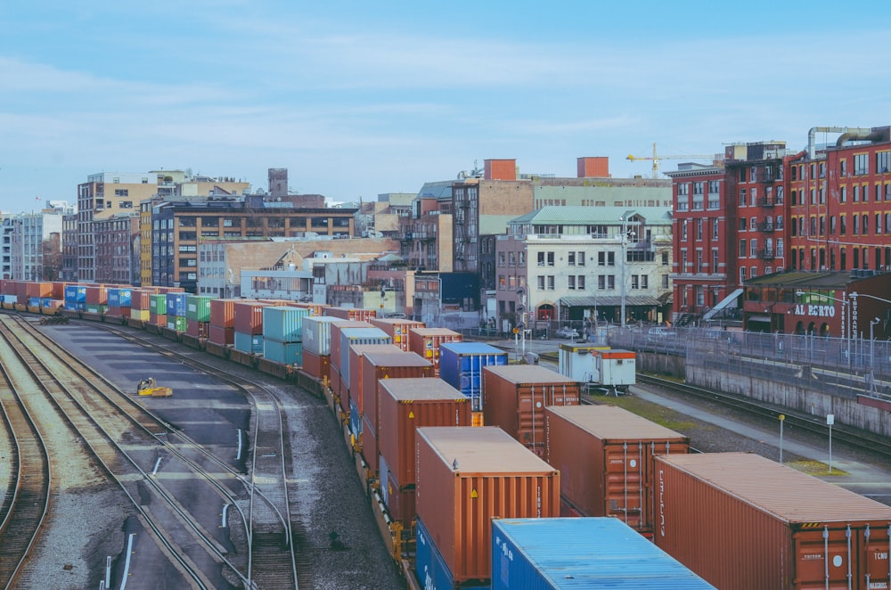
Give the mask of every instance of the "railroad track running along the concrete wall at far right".
M 751 400 L 746 397 L 740 397 L 711 389 L 702 389 L 678 383 L 677 381 L 642 375 L 640 373 L 637 375 L 637 381 L 642 384 L 657 386 L 660 389 L 666 389 L 669 392 L 679 394 L 683 397 L 692 397 L 719 406 L 732 408 L 733 410 L 773 423 L 776 423 L 779 420 L 780 414 L 783 414 L 785 416 L 786 424 L 789 427 L 820 435 L 823 438 L 829 435 L 829 426 L 822 417 L 796 413 L 795 411 L 789 410 L 789 408 L 765 406 L 756 400 Z M 875 455 L 881 455 L 886 459 L 891 457 L 891 439 L 882 438 L 873 435 L 870 432 L 852 429 L 843 424 L 834 424 L 832 426 L 832 439 L 833 441 L 847 445 L 848 447 Z

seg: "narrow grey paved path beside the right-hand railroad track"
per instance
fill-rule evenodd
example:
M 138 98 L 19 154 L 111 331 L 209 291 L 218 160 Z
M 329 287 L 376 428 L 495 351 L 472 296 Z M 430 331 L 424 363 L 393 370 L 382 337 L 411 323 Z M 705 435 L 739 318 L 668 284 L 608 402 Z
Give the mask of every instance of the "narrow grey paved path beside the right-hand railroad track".
M 780 433 L 778 430 L 763 430 L 747 424 L 740 424 L 740 422 L 734 422 L 722 416 L 709 414 L 707 411 L 697 406 L 686 404 L 683 401 L 658 396 L 647 389 L 642 389 L 640 386 L 632 387 L 631 393 L 652 404 L 666 406 L 675 412 L 691 416 L 691 418 L 696 418 L 699 421 L 715 424 L 715 426 L 725 430 L 732 430 L 748 438 L 763 440 L 765 444 L 773 447 L 780 447 Z M 789 451 L 789 453 L 813 459 L 813 461 L 822 463 L 828 463 L 829 461 L 829 440 L 827 440 L 826 447 L 818 448 L 784 437 L 782 447 L 784 452 Z M 862 496 L 869 496 L 883 504 L 891 504 L 891 473 L 888 471 L 884 471 L 869 463 L 855 461 L 844 453 L 836 453 L 835 450 L 832 453 L 832 469 L 846 471 L 848 475 L 822 476 L 819 479 L 849 489 Z

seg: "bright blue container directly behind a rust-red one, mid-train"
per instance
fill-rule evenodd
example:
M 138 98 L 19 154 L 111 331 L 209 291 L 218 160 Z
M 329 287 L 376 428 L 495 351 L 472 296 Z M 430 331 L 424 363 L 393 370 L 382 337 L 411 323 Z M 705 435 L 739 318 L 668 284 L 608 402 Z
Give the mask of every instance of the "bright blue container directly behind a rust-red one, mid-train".
M 439 378 L 470 398 L 472 412 L 483 411 L 483 367 L 507 365 L 507 353 L 482 342 L 439 345 Z

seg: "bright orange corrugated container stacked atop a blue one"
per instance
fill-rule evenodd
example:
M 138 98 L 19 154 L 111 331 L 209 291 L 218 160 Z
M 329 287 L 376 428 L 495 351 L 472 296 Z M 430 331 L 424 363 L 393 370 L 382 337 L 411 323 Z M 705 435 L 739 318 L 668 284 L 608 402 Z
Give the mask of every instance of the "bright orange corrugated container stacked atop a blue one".
M 419 519 L 455 582 L 491 576 L 490 520 L 560 515 L 560 473 L 500 428 L 417 430 Z

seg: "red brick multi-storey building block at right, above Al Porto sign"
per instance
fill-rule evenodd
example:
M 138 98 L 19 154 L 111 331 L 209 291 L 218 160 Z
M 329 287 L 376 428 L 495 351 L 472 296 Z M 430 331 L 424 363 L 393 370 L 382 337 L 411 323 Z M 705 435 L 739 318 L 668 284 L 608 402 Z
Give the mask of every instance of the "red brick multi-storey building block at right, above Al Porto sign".
M 819 134 L 836 141 L 818 146 Z M 891 127 L 813 127 L 801 152 L 784 142 L 732 144 L 723 162 L 666 176 L 678 324 L 838 335 L 852 309 L 799 317 L 812 308 L 801 304 L 850 306 L 858 290 L 881 299 L 879 275 L 891 271 Z

